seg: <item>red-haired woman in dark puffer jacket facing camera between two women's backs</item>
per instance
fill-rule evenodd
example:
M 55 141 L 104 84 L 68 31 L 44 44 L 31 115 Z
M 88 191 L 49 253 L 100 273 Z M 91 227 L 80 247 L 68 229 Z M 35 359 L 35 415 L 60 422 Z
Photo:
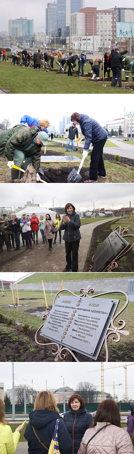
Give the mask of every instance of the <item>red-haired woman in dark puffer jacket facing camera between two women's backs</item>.
M 73 453 L 77 454 L 85 431 L 93 424 L 93 416 L 86 410 L 79 394 L 70 397 L 68 407 L 70 411 L 65 413 L 63 420 L 72 439 Z

